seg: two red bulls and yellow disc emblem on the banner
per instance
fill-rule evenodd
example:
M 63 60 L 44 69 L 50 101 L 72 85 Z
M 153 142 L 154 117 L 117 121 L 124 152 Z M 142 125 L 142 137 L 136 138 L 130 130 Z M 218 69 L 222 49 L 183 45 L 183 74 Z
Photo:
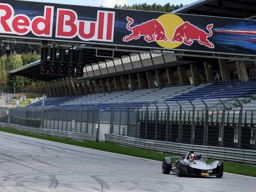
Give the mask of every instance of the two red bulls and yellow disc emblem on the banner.
M 156 42 L 164 48 L 176 48 L 182 44 L 190 46 L 197 41 L 200 45 L 214 49 L 214 44 L 208 40 L 213 35 L 213 24 L 206 26 L 206 32 L 171 13 L 166 13 L 157 19 L 148 20 L 136 26 L 132 26 L 134 19 L 131 17 L 126 19 L 126 28 L 131 31 L 131 34 L 124 36 L 124 42 L 144 37 L 144 40 L 148 43 Z

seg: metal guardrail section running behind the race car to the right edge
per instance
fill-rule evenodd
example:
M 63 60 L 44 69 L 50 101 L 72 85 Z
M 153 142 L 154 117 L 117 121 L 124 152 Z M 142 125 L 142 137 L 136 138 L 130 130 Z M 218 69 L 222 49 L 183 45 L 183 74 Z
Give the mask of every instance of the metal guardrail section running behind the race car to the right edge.
M 142 140 L 115 134 L 106 134 L 106 141 L 117 143 L 128 147 L 143 148 L 157 152 L 167 152 L 172 154 L 186 154 L 189 150 L 194 150 L 204 157 L 234 161 L 237 163 L 256 164 L 255 150 L 242 150 L 236 148 L 211 147 L 202 145 L 188 145 L 183 143 L 171 143 L 165 141 Z

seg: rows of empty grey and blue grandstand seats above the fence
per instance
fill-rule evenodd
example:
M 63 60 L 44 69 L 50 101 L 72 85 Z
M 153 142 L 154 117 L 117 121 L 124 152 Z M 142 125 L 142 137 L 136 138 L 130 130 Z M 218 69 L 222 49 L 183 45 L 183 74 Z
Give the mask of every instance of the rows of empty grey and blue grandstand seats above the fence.
M 215 106 L 211 109 L 221 109 L 221 102 L 225 101 L 226 108 L 234 107 L 232 98 L 252 97 L 256 91 L 255 81 L 233 81 L 225 83 L 208 83 L 199 86 L 173 86 L 166 88 L 153 88 L 145 90 L 134 90 L 112 93 L 95 93 L 91 95 L 79 95 L 70 97 L 56 97 L 45 100 L 45 106 L 48 108 L 61 109 L 102 109 L 109 110 L 115 108 L 167 108 L 178 110 L 180 105 L 182 109 L 196 110 Z M 243 96 L 244 95 L 244 96 Z M 240 99 L 241 99 L 240 98 Z M 230 100 L 230 102 L 227 100 Z M 42 106 L 42 101 L 31 104 L 30 108 Z M 256 109 L 256 102 L 252 101 L 244 104 L 244 108 Z

